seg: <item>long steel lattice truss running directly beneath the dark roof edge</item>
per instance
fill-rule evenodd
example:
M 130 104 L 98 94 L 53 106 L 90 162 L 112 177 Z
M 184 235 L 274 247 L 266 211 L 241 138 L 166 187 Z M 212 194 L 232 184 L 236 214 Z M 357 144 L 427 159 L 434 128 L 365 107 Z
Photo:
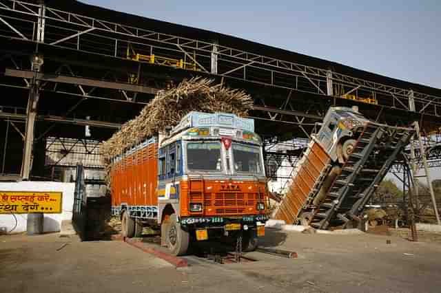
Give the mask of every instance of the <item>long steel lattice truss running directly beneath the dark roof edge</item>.
M 188 58 L 199 72 L 262 85 L 336 98 L 342 96 L 334 94 L 336 89 L 345 94 L 365 91 L 373 94 L 380 106 L 407 111 L 412 97 L 416 112 L 439 116 L 438 96 L 32 3 L 0 0 L 0 21 L 5 25 L 0 35 L 8 38 L 39 41 L 43 36 L 48 45 L 124 59 L 130 44 L 139 54 Z

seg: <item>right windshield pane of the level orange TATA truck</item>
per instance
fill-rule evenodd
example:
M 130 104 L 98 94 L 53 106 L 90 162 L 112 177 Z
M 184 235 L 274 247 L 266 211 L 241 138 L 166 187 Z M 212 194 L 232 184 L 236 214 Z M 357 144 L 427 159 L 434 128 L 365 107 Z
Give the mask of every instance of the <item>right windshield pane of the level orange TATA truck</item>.
M 233 144 L 234 171 L 260 174 L 260 149 L 258 146 Z

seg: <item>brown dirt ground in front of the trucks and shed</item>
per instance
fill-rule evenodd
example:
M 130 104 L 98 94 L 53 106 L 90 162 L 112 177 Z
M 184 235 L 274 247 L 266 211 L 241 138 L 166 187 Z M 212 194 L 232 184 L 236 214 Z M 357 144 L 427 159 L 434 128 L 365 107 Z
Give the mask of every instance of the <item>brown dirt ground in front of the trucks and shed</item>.
M 252 252 L 258 261 L 220 265 L 189 256 L 176 269 L 121 241 L 0 236 L 0 292 L 441 292 L 440 244 L 269 229 L 261 240 L 299 257 Z

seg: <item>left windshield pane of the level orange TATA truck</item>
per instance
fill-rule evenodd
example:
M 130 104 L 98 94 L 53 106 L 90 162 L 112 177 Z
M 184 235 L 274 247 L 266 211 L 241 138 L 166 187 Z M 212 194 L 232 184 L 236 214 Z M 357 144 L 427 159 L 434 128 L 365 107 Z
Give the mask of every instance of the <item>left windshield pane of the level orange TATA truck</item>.
M 220 142 L 190 142 L 187 144 L 189 170 L 220 171 Z

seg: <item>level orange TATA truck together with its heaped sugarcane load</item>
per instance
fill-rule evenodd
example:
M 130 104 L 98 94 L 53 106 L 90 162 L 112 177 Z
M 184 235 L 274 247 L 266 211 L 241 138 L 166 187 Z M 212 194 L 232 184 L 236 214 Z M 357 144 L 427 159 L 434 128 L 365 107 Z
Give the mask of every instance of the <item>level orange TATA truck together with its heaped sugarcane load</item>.
M 267 186 L 260 137 L 244 91 L 194 78 L 159 91 L 103 144 L 112 215 L 124 237 L 161 229 L 172 254 L 192 241 L 265 235 Z

